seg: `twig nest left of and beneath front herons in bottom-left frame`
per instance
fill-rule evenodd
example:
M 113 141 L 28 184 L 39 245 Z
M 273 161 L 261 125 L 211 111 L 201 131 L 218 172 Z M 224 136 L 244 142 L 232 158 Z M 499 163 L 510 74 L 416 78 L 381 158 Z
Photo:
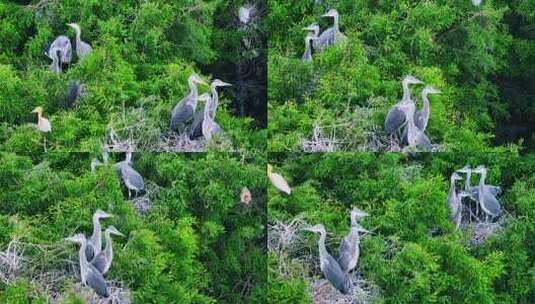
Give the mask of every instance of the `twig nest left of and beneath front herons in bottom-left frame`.
M 62 303 L 66 286 L 79 280 L 78 258 L 71 256 L 71 246 L 65 242 L 47 245 L 12 239 L 0 251 L 0 282 L 5 285 L 24 279 L 31 289 L 46 296 L 49 303 Z M 116 282 L 108 281 L 110 297 L 100 298 L 91 288 L 75 283 L 72 291 L 91 304 L 130 303 L 130 292 Z

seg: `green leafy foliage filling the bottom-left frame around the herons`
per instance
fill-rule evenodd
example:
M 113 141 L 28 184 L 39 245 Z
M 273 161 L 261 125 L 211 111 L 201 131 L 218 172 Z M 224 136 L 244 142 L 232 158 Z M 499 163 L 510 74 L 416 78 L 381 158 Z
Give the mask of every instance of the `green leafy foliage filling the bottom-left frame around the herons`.
M 64 259 L 25 252 L 45 270 L 51 265 L 65 268 L 66 260 L 77 261 L 77 251 L 63 238 L 74 232 L 90 234 L 92 213 L 100 208 L 115 215 L 105 225 L 114 225 L 127 236 L 114 239 L 113 266 L 106 278 L 128 288 L 135 303 L 265 301 L 266 185 L 260 155 L 135 154 L 134 167 L 148 189 L 157 187 L 145 216 L 126 200 L 113 168 L 90 172 L 91 157 L 59 152 L 39 157 L 0 154 L 2 250 L 13 238 L 65 246 L 69 255 Z M 123 156 L 111 158 L 114 163 Z M 239 203 L 242 187 L 252 193 L 249 207 Z M 67 296 L 73 292 L 68 285 L 59 287 L 67 303 L 77 303 L 76 293 Z M 33 301 L 34 290 L 22 283 L 0 284 L 0 299 Z

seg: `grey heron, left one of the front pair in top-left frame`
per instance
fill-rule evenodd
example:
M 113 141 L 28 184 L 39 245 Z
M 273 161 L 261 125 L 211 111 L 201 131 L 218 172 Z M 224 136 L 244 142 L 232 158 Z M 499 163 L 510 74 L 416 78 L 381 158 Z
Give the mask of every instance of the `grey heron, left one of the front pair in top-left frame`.
M 197 108 L 197 84 L 206 85 L 206 82 L 195 74 L 191 75 L 188 78 L 188 86 L 190 89 L 189 94 L 176 104 L 171 113 L 171 130 L 177 132 L 180 131 L 193 117 L 195 109 Z

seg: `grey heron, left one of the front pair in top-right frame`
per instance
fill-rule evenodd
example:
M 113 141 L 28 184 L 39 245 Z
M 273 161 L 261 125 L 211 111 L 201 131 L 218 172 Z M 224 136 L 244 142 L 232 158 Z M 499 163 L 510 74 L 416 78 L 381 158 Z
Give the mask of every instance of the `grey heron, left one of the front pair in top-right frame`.
M 385 133 L 390 135 L 398 130 L 407 121 L 407 112 L 416 110 L 416 105 L 411 99 L 411 92 L 409 85 L 421 84 L 422 81 L 414 76 L 406 76 L 402 81 L 403 97 L 396 103 L 386 115 L 385 118 Z M 414 114 L 413 114 L 414 115 Z

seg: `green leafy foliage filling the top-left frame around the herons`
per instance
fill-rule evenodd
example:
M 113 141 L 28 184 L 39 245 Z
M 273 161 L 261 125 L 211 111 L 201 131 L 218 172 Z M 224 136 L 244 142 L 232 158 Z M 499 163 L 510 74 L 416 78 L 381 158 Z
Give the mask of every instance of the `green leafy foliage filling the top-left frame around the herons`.
M 49 150 L 94 151 L 110 126 L 118 130 L 133 125 L 138 126 L 135 139 L 140 148 L 152 148 L 169 130 L 171 110 L 188 92 L 188 76 L 209 74 L 206 66 L 219 57 L 228 59 L 218 48 L 225 38 L 214 35 L 231 31 L 214 25 L 220 5 L 218 0 L 140 4 L 69 0 L 50 1 L 41 8 L 1 3 L 0 121 L 8 124 L 0 147 L 17 151 L 24 144 L 21 138 L 28 136 L 25 126 L 36 121 L 30 112 L 42 106 L 52 123 Z M 82 39 L 93 51 L 82 61 L 73 54 L 64 73 L 55 74 L 48 71 L 50 60 L 43 48 L 58 35 L 66 35 L 75 53 L 74 31 L 66 26 L 70 22 L 80 24 Z M 85 86 L 86 95 L 72 105 L 65 100 L 73 80 Z M 230 98 L 222 93 L 219 125 L 233 147 L 262 149 L 265 133 L 256 132 L 252 119 L 237 117 Z M 143 117 L 134 119 L 138 112 Z M 118 133 L 122 138 L 130 135 Z

